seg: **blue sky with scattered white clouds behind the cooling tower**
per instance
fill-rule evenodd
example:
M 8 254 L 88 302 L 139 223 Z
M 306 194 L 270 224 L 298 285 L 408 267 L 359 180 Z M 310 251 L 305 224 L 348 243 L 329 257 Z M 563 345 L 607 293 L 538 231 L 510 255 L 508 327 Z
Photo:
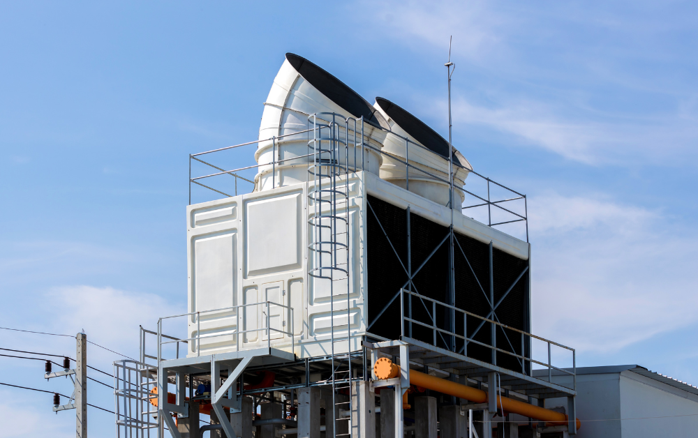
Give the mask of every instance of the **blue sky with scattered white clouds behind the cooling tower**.
M 137 354 L 138 324 L 185 308 L 188 153 L 256 138 L 283 54 L 446 135 L 453 35 L 454 144 L 529 197 L 534 332 L 578 365 L 697 384 L 697 29 L 688 1 L 5 1 L 0 325 Z M 0 347 L 74 354 L 3 332 Z M 0 366 L 69 391 L 40 362 Z M 0 417 L 28 425 L 0 438 L 72 435 L 50 395 L 0 394 Z M 107 388 L 91 402 L 113 407 Z M 113 434 L 90 415 L 91 436 Z

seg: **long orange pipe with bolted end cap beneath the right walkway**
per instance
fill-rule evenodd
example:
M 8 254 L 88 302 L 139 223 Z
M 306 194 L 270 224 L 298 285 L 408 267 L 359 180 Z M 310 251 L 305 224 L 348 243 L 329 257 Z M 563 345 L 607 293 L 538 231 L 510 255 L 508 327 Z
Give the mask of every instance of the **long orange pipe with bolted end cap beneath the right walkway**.
M 387 357 L 379 358 L 373 365 L 373 372 L 376 373 L 378 379 L 392 379 L 400 375 L 399 365 L 395 365 Z M 488 396 L 487 392 L 471 386 L 461 385 L 449 380 L 433 377 L 424 372 L 410 370 L 410 384 L 422 386 L 423 388 L 433 389 L 447 395 L 453 395 L 457 398 L 465 398 L 475 403 L 486 403 Z M 535 418 L 539 421 L 546 421 L 551 425 L 566 425 L 567 415 L 562 412 L 551 411 L 544 407 L 529 405 L 525 402 L 519 402 L 508 397 L 497 398 L 497 407 L 507 412 Z M 577 429 L 581 428 L 581 421 L 577 418 Z

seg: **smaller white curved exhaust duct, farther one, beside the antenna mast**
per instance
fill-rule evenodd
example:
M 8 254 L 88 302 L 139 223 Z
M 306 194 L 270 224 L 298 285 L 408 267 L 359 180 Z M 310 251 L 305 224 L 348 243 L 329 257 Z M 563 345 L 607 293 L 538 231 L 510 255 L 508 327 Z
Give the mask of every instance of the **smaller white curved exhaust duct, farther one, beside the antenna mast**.
M 376 98 L 373 106 L 388 121 L 391 130 L 383 142 L 385 154 L 380 165 L 380 178 L 406 188 L 409 176 L 410 192 L 441 205 L 448 204 L 448 142 L 426 123 L 385 98 Z M 407 137 L 410 142 L 424 146 L 410 144 L 408 163 L 414 167 L 410 167 L 409 174 L 406 165 L 399 161 L 406 160 L 406 141 L 398 136 Z M 454 147 L 451 151 L 454 163 L 454 204 L 460 205 L 465 199 L 463 185 L 473 167 Z

